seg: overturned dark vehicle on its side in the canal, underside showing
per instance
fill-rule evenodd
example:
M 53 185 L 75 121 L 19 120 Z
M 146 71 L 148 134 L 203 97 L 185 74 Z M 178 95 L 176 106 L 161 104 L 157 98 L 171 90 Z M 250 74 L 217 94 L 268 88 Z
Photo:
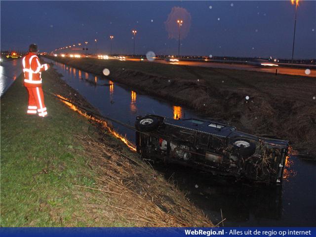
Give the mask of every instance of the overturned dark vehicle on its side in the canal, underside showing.
M 257 137 L 216 120 L 138 116 L 136 147 L 142 158 L 180 163 L 213 174 L 280 184 L 288 142 Z

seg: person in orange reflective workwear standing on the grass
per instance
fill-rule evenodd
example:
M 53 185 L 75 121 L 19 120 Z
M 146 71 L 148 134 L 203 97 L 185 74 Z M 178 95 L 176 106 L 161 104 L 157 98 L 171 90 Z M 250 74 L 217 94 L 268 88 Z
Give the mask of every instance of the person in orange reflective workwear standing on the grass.
M 40 117 L 47 116 L 47 110 L 44 103 L 44 94 L 41 88 L 41 72 L 49 68 L 48 64 L 40 64 L 40 59 L 37 56 L 38 46 L 31 44 L 29 52 L 22 59 L 24 86 L 29 93 L 29 105 L 27 114 Z

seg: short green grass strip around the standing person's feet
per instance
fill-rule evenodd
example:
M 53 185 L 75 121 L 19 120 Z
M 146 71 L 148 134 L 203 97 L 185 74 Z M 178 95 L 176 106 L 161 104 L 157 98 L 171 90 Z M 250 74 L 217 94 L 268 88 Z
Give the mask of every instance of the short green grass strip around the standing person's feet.
M 53 87 L 43 74 L 44 90 Z M 92 218 L 87 204 L 104 194 L 93 187 L 95 174 L 75 135 L 93 131 L 90 123 L 44 92 L 50 119 L 26 115 L 22 77 L 1 98 L 1 223 L 22 226 L 124 226 L 123 220 Z M 101 197 L 100 197 L 101 195 Z M 91 209 L 91 207 L 90 207 Z

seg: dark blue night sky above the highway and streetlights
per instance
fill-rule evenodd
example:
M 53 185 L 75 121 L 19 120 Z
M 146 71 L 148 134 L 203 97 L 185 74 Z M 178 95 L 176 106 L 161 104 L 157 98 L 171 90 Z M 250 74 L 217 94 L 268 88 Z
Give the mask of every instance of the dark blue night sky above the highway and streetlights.
M 191 18 L 183 23 L 182 55 L 292 55 L 295 5 L 289 0 L 1 1 L 0 6 L 1 50 L 27 50 L 37 43 L 50 52 L 88 41 L 94 52 L 97 39 L 99 52 L 109 53 L 113 35 L 113 53 L 131 54 L 136 29 L 135 53 L 177 54 L 178 39 L 170 38 L 165 22 L 173 7 L 182 7 L 187 21 Z M 316 1 L 299 2 L 294 58 L 316 58 Z

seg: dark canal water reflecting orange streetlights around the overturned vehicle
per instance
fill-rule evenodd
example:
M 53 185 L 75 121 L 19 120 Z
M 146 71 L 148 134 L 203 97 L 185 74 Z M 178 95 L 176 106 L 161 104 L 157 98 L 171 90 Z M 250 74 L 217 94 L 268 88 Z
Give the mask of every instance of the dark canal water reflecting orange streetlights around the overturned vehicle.
M 109 79 L 105 79 L 47 61 L 54 63 L 63 79 L 105 116 L 131 125 L 137 115 L 145 114 L 202 118 L 192 110 L 142 95 L 113 82 L 111 74 Z M 104 86 L 106 83 L 113 85 Z M 115 123 L 113 125 L 120 134 L 126 134 L 127 139 L 134 141 L 133 131 Z M 286 161 L 284 182 L 279 188 L 238 184 L 182 166 L 155 167 L 187 192 L 187 197 L 203 210 L 213 224 L 226 218 L 223 222 L 225 227 L 316 226 L 316 162 L 290 156 Z

